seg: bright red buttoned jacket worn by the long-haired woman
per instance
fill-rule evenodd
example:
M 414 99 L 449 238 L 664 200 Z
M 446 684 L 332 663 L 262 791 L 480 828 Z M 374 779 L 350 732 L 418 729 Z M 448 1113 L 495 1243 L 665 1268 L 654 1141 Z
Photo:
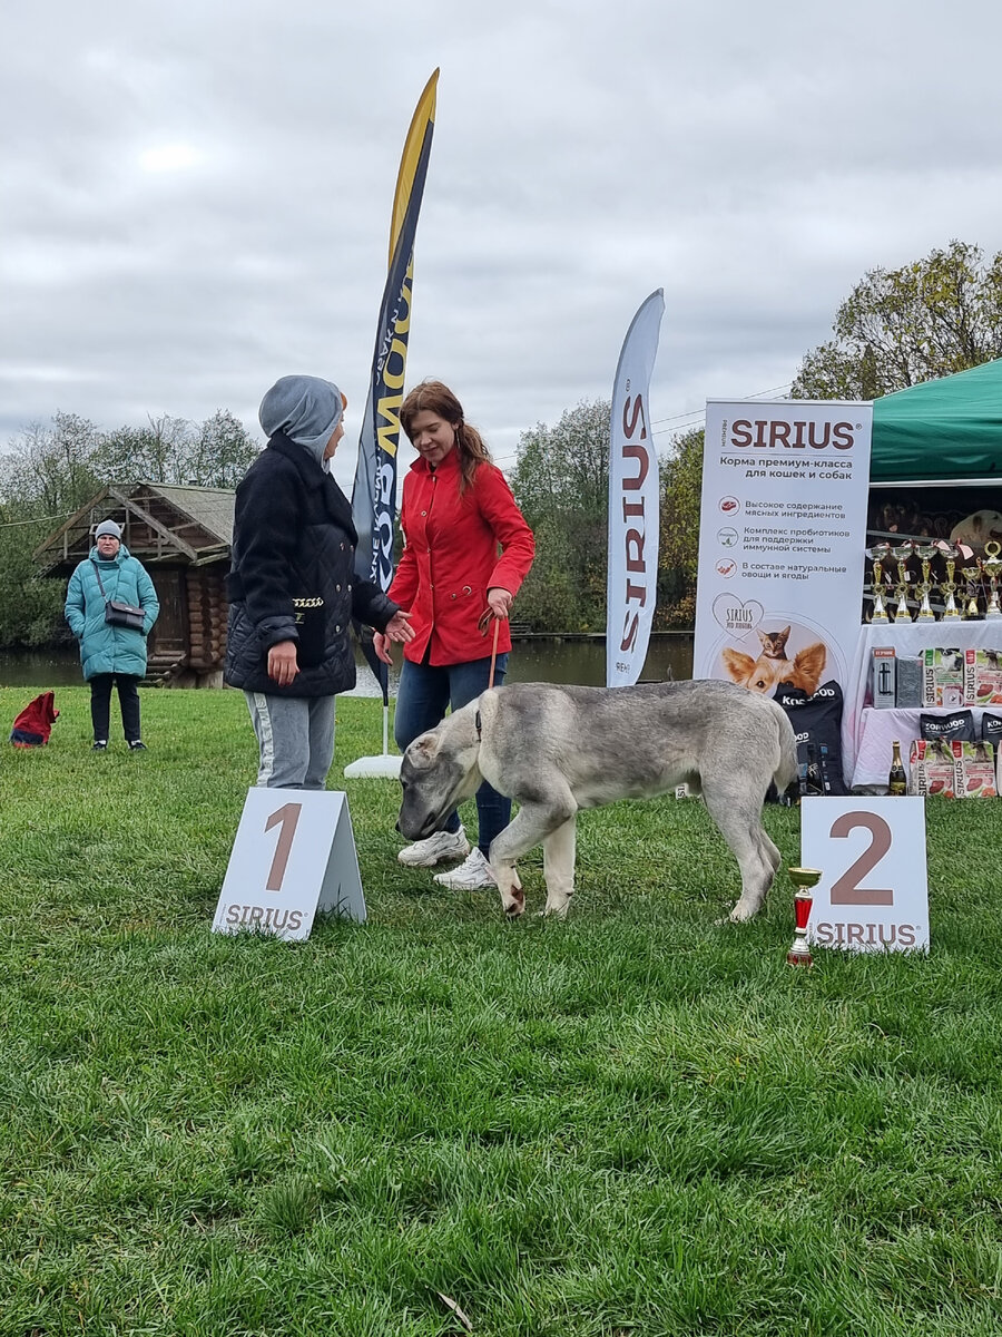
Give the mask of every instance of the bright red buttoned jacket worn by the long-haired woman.
M 477 630 L 488 590 L 500 586 L 517 594 L 536 554 L 532 529 L 496 465 L 478 465 L 462 495 L 460 479 L 460 456 L 453 449 L 436 469 L 415 460 L 403 480 L 405 548 L 389 596 L 413 614 L 415 636 L 403 655 L 414 663 L 424 660 L 429 642 L 432 664 L 489 655 L 493 630 L 486 636 Z M 497 648 L 512 648 L 506 620 Z

